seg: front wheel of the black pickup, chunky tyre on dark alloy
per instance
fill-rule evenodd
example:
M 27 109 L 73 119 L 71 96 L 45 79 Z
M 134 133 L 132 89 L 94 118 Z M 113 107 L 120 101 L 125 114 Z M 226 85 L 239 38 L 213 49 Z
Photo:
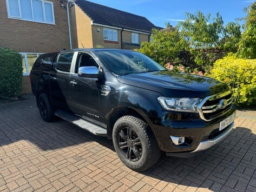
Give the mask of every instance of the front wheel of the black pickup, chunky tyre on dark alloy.
M 148 125 L 134 116 L 123 116 L 113 128 L 113 143 L 120 160 L 130 169 L 144 171 L 160 158 L 161 151 Z

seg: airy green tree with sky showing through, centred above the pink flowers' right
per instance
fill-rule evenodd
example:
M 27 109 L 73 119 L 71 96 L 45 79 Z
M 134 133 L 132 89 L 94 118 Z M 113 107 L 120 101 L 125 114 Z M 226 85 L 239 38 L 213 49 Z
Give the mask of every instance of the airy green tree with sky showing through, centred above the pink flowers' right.
M 179 23 L 181 36 L 186 39 L 194 61 L 205 71 L 211 70 L 213 63 L 225 52 L 237 52 L 240 41 L 240 25 L 228 23 L 226 27 L 219 13 L 211 19 L 197 11 L 186 13 L 186 19 Z

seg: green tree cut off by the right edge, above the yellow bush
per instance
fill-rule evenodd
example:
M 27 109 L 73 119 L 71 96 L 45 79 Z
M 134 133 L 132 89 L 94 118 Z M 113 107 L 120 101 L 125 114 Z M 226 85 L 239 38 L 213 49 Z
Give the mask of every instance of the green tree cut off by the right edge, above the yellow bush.
M 256 2 L 245 8 L 244 33 L 239 42 L 238 56 L 242 58 L 256 58 Z

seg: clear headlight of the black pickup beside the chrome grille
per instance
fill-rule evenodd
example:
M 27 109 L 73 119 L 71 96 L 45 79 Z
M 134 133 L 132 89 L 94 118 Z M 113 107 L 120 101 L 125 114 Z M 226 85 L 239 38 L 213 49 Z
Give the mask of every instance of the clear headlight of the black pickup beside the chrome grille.
M 158 97 L 157 100 L 166 110 L 181 112 L 198 112 L 196 107 L 201 102 L 200 98 Z

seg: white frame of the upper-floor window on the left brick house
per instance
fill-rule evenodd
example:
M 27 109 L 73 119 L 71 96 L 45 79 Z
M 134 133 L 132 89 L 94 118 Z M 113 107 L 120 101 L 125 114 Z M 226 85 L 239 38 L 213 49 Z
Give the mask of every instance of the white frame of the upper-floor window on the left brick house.
M 10 6 L 9 6 L 9 0 L 6 0 L 8 18 L 18 19 L 18 20 L 23 20 L 23 21 L 31 21 L 31 22 L 36 22 L 36 23 L 55 24 L 54 3 L 53 3 L 53 2 L 44 1 L 44 0 L 38 0 L 38 1 L 41 1 L 41 2 L 42 2 L 42 9 L 43 9 L 43 22 L 42 22 L 42 21 L 35 21 L 35 20 L 34 20 L 34 11 L 33 11 L 33 6 L 32 6 L 32 0 L 30 0 L 32 19 L 24 19 L 24 18 L 22 18 L 22 13 L 21 13 L 21 1 L 22 1 L 22 0 L 17 0 L 17 1 L 18 1 L 18 6 L 19 6 L 19 17 L 17 17 L 17 16 L 11 16 L 11 14 L 10 14 L 11 11 L 10 11 Z M 44 9 L 44 3 L 51 4 L 52 22 L 47 22 L 47 21 L 46 21 L 46 12 L 45 12 L 45 9 Z

